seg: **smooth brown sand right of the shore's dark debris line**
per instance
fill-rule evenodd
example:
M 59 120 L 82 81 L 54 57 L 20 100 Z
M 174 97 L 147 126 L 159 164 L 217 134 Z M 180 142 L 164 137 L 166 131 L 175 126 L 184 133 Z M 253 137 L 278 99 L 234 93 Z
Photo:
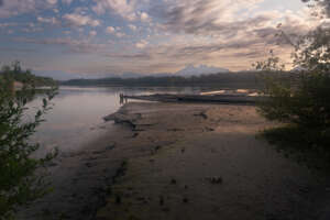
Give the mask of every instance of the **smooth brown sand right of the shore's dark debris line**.
M 254 107 L 128 103 L 127 157 L 97 219 L 318 219 L 327 185 L 256 134 Z

